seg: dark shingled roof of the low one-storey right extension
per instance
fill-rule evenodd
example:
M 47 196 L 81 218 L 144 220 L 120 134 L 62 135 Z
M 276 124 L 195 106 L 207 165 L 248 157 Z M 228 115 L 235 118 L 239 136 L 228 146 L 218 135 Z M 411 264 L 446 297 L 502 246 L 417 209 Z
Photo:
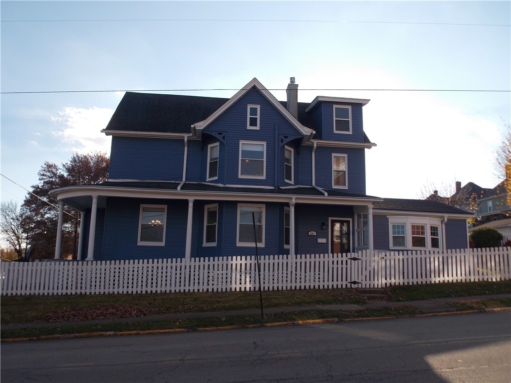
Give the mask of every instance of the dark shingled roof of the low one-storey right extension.
M 458 209 L 454 206 L 446 205 L 445 203 L 431 200 L 407 200 L 398 198 L 384 198 L 383 201 L 378 201 L 373 204 L 373 207 L 378 210 L 389 211 L 410 211 L 421 213 L 438 213 L 438 214 L 467 214 L 472 213 Z

